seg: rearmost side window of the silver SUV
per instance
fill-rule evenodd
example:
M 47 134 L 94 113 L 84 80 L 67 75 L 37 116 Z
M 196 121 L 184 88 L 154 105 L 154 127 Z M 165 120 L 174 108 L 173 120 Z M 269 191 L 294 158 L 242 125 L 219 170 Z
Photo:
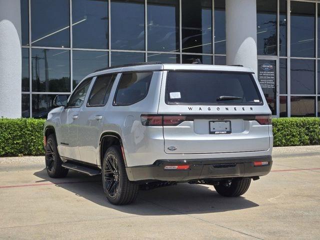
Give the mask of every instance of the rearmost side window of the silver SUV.
M 152 73 L 123 73 L 117 87 L 114 105 L 130 105 L 142 100 L 148 93 Z

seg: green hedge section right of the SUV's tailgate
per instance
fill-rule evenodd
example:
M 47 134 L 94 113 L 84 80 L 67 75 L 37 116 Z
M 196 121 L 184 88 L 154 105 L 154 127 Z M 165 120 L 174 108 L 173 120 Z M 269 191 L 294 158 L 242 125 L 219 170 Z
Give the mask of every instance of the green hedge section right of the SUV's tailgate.
M 273 146 L 301 146 L 320 143 L 320 118 L 274 118 L 272 125 Z

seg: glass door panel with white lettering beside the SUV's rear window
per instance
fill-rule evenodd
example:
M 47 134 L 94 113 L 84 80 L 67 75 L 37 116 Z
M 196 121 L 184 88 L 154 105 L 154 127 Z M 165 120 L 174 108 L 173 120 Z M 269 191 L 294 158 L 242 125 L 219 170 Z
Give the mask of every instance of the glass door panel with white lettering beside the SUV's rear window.
M 258 60 L 258 80 L 272 115 L 276 115 L 275 60 Z

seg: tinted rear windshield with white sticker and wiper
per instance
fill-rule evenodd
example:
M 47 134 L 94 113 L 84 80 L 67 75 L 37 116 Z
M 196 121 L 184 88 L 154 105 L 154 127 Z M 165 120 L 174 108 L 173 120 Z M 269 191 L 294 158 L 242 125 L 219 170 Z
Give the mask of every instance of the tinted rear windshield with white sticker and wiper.
M 261 105 L 258 88 L 250 73 L 169 71 L 168 104 Z

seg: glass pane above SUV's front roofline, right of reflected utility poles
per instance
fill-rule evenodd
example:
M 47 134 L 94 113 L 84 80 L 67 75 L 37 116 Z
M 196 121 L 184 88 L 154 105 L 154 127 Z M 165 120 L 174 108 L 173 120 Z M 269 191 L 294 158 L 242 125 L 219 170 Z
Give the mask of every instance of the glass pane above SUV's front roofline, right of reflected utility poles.
M 108 66 L 108 52 L 73 50 L 72 64 L 72 87 L 74 89 L 86 75 Z

